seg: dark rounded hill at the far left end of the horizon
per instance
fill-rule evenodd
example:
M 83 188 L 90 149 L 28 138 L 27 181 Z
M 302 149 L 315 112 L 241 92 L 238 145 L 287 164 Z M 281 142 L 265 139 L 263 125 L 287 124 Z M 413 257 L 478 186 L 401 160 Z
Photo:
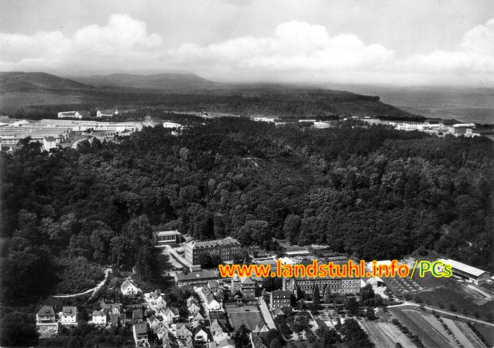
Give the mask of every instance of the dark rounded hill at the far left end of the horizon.
M 92 89 L 92 86 L 49 73 L 0 72 L 0 92 L 46 89 L 85 90 Z

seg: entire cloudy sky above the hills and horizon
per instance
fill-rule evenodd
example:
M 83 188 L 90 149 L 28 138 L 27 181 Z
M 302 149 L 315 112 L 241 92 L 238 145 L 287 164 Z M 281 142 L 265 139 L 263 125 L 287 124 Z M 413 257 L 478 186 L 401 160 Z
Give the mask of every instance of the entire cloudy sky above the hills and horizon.
M 494 87 L 494 1 L 0 0 L 0 71 Z

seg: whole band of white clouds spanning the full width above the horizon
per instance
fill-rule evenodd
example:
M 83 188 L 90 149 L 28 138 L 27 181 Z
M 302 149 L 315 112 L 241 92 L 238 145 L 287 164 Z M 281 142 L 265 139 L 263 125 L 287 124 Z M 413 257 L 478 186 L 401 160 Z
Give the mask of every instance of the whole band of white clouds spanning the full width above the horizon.
M 166 47 L 143 21 L 127 14 L 73 35 L 0 32 L 0 70 L 143 71 L 176 68 L 212 80 L 469 84 L 494 86 L 494 18 L 459 37 L 454 49 L 400 56 L 392 47 L 323 25 L 291 20 L 270 35 Z

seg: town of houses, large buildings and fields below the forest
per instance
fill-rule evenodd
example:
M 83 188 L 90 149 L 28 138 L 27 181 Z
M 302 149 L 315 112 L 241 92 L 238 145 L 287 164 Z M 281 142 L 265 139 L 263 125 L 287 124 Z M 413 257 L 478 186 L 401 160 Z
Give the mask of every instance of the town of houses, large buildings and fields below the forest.
M 162 269 L 169 279 L 166 289 L 143 288 L 133 273 L 114 268 L 83 304 L 38 308 L 40 339 L 64 337 L 83 320 L 93 330 L 125 328 L 135 347 L 308 347 L 329 345 L 342 337 L 359 342 L 359 347 L 490 344 L 483 335 L 494 324 L 483 320 L 481 313 L 469 313 L 456 308 L 457 303 L 448 303 L 447 297 L 433 296 L 447 286 L 480 303 L 493 299 L 494 276 L 455 260 L 441 259 L 452 266 L 453 277 L 447 280 L 418 276 L 222 278 L 213 260 L 273 269 L 277 260 L 284 265 L 308 265 L 313 260 L 344 263 L 349 256 L 328 246 L 301 247 L 281 240 L 283 251 L 274 253 L 246 248 L 231 237 L 195 241 L 176 230 L 153 232 L 153 242 L 167 260 Z M 415 260 L 400 262 L 413 266 Z M 370 267 L 368 262 L 366 268 Z M 70 301 L 77 296 L 54 298 Z M 350 335 L 343 334 L 349 330 Z

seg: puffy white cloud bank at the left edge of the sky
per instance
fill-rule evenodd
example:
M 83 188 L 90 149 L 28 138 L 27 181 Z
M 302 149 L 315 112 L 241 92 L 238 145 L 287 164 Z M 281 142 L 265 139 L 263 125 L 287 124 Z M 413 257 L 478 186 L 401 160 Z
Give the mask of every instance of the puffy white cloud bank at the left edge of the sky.
M 155 58 L 161 44 L 159 35 L 147 33 L 144 22 L 114 14 L 106 25 L 88 25 L 73 37 L 59 31 L 0 33 L 0 68 L 130 68 Z

